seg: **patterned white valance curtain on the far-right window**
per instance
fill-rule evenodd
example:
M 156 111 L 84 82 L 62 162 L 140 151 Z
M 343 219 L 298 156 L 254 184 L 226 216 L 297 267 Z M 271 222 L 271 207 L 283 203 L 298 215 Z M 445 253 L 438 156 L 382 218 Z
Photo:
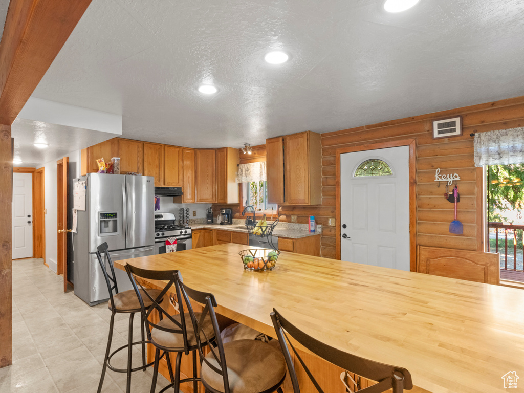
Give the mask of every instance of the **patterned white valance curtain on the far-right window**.
M 476 133 L 475 166 L 524 162 L 524 127 Z

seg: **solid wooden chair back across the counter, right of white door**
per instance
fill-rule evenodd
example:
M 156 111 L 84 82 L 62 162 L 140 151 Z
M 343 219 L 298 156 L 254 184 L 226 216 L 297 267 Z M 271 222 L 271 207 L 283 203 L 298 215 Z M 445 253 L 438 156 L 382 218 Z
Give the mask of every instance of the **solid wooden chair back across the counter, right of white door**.
M 417 271 L 500 285 L 500 256 L 498 253 L 418 246 Z

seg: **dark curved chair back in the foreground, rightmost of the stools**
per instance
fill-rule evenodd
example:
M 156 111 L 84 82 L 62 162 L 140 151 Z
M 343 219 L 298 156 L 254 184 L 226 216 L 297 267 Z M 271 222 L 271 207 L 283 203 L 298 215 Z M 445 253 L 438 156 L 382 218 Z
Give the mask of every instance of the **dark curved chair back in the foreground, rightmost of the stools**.
M 325 359 L 326 361 L 339 366 L 344 370 L 348 370 L 351 373 L 355 373 L 364 378 L 378 382 L 376 385 L 358 390 L 359 392 L 380 393 L 392 388 L 394 393 L 402 393 L 404 389 L 410 390 L 413 388 L 411 375 L 405 368 L 373 362 L 369 359 L 337 350 L 336 348 L 330 347 L 329 345 L 326 345 L 305 334 L 296 326 L 292 325 L 290 322 L 284 319 L 277 310 L 273 309 L 273 312 L 270 315 L 273 325 L 275 326 L 275 331 L 277 332 L 277 338 L 279 340 L 280 347 L 282 348 L 282 352 L 286 358 L 286 364 L 289 370 L 291 384 L 293 386 L 293 393 L 300 393 L 300 386 L 298 384 L 297 372 L 289 352 L 289 347 L 291 347 L 295 357 L 300 362 L 316 390 L 319 393 L 324 393 L 324 391 L 312 375 L 309 368 L 305 365 L 298 352 L 295 350 L 293 344 L 289 340 L 288 334 L 303 347 L 307 348 L 307 350 Z

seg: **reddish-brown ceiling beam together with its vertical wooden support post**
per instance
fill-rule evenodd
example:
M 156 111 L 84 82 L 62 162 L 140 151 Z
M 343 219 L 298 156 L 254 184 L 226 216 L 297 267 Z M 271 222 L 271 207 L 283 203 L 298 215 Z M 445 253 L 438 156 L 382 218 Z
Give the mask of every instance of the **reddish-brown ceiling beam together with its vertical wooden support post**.
M 12 364 L 11 124 L 91 0 L 11 0 L 0 42 L 0 368 Z

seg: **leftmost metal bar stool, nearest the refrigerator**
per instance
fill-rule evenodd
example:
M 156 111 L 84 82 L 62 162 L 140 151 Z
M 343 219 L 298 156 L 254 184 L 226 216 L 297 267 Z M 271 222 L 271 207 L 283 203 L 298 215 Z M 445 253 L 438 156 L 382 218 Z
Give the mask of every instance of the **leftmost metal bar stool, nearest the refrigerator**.
M 144 320 L 140 312 L 141 311 L 140 302 L 136 296 L 134 289 L 130 289 L 130 290 L 123 291 L 123 292 L 118 292 L 118 286 L 117 286 L 116 278 L 115 278 L 115 269 L 113 267 L 113 261 L 111 260 L 111 256 L 109 255 L 108 248 L 109 247 L 107 243 L 104 242 L 100 246 L 96 247 L 96 253 L 95 253 L 96 258 L 99 260 L 100 267 L 102 268 L 102 272 L 105 277 L 105 282 L 107 284 L 107 289 L 109 291 L 109 301 L 107 303 L 107 307 L 111 310 L 111 322 L 109 324 L 109 337 L 107 339 L 107 348 L 105 351 L 104 365 L 102 367 L 102 375 L 100 376 L 100 383 L 99 383 L 97 393 L 100 393 L 102 391 L 102 385 L 104 383 L 104 377 L 105 377 L 105 372 L 107 368 L 117 373 L 127 373 L 126 392 L 129 393 L 131 391 L 131 373 L 138 371 L 138 370 L 145 370 L 147 367 L 152 366 L 153 362 L 146 364 L 146 344 L 149 342 L 145 340 Z M 104 254 L 104 258 L 102 258 L 102 254 Z M 110 272 L 107 271 L 106 263 L 110 267 Z M 113 294 L 113 291 L 114 291 L 114 294 Z M 147 289 L 144 289 L 144 291 L 147 291 L 147 293 L 149 293 L 153 297 L 157 297 L 158 294 L 160 293 L 160 290 L 158 289 L 147 288 Z M 140 313 L 141 341 L 133 342 L 133 319 L 134 319 L 136 312 Z M 113 326 L 115 323 L 115 314 L 117 313 L 129 314 L 128 342 L 126 345 L 123 345 L 117 348 L 112 353 L 110 353 L 111 352 L 111 342 L 113 340 Z M 142 365 L 135 367 L 135 368 L 132 367 L 133 346 L 134 345 L 141 345 L 142 347 Z M 125 348 L 128 348 L 127 368 L 116 368 L 112 366 L 110 363 L 111 358 L 116 353 L 124 350 Z

